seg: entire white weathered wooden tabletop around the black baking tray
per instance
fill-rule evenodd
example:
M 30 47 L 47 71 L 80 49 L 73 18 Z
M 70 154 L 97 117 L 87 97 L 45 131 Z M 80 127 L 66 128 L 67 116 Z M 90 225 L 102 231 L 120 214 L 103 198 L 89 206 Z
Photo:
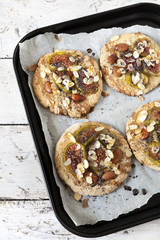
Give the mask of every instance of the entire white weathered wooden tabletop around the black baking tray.
M 36 28 L 137 2 L 0 0 L 0 239 L 80 239 L 65 230 L 51 210 L 13 71 L 17 42 Z M 159 240 L 160 219 L 101 239 Z

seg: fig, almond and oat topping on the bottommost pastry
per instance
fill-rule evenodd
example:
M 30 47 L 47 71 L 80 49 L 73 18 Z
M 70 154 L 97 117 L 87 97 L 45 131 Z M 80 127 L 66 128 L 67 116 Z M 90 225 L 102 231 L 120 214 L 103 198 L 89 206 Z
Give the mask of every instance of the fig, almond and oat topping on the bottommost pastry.
M 71 143 L 65 150 L 64 165 L 79 181 L 94 186 L 121 173 L 123 153 L 116 137 L 104 127 L 86 125 L 68 137 Z

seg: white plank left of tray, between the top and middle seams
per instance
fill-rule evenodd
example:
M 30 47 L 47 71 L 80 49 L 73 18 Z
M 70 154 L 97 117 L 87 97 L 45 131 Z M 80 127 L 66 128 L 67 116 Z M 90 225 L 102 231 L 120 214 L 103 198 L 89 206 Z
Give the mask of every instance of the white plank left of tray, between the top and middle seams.
M 0 59 L 0 73 L 0 124 L 28 123 L 11 59 Z

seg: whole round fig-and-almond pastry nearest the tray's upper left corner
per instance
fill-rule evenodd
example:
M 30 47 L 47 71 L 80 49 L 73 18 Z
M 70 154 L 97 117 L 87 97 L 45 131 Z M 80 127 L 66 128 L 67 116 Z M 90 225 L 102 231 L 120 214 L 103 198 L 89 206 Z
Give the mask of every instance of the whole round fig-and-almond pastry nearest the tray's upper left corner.
M 80 51 L 57 50 L 40 58 L 33 89 L 39 102 L 51 112 L 79 118 L 98 102 L 102 79 L 91 57 Z

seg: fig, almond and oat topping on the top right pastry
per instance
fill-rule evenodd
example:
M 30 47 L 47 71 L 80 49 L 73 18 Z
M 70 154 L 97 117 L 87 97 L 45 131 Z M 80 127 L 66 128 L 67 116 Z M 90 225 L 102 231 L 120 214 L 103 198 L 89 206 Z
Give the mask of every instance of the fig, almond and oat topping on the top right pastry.
M 111 51 L 108 57 L 112 65 L 109 74 L 113 73 L 116 77 L 125 75 L 125 81 L 142 93 L 149 83 L 149 76 L 160 74 L 159 53 L 147 38 L 138 39 L 133 46 L 116 44 Z

